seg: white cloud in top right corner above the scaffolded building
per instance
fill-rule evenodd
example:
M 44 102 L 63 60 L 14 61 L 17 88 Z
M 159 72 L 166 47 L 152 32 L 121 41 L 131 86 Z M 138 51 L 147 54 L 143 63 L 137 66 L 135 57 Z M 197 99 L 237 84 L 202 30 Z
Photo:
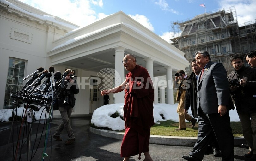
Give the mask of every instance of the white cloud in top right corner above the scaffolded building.
M 239 26 L 245 22 L 254 21 L 256 17 L 256 0 L 221 0 L 219 5 L 226 11 L 235 6 Z

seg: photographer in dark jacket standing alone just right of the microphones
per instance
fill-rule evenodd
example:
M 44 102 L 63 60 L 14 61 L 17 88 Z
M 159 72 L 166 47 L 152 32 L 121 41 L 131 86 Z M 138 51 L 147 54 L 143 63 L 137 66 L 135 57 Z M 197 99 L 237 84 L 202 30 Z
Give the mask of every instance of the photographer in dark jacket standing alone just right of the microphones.
M 73 129 L 70 126 L 70 116 L 76 103 L 76 98 L 74 95 L 79 93 L 79 88 L 76 88 L 76 76 L 73 75 L 73 73 L 73 70 L 67 69 L 62 75 L 62 80 L 56 83 L 56 89 L 62 88 L 63 86 L 65 89 L 58 98 L 58 106 L 60 115 L 62 117 L 62 122 L 55 131 L 53 138 L 56 141 L 62 141 L 60 134 L 65 128 L 69 138 L 65 145 L 70 145 L 76 140 L 73 134 Z M 71 84 L 71 86 L 69 84 Z

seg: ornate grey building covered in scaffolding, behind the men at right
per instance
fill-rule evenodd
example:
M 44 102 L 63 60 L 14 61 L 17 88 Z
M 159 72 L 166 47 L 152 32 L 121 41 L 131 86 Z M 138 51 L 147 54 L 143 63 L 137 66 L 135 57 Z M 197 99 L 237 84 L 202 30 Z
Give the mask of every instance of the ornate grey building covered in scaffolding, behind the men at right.
M 183 51 L 189 62 L 195 58 L 195 52 L 208 51 L 212 61 L 222 63 L 230 73 L 231 55 L 256 49 L 255 20 L 239 27 L 235 7 L 204 13 L 184 22 L 173 22 L 170 32 L 179 36 L 171 39 L 171 44 Z M 186 68 L 186 72 L 191 73 L 191 68 Z

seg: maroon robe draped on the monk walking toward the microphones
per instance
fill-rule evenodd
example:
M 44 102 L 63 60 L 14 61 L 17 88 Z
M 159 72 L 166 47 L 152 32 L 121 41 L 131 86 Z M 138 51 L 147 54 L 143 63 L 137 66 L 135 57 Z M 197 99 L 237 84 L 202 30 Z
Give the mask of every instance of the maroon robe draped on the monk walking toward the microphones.
M 125 135 L 121 157 L 134 156 L 149 151 L 150 127 L 153 126 L 153 83 L 147 69 L 136 65 L 126 75 L 129 89 L 125 89 Z

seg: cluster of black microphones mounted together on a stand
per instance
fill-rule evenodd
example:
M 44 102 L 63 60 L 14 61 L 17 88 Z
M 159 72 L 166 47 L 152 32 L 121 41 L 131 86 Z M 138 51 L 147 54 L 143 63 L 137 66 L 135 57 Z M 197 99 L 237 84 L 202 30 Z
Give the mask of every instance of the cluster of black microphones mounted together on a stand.
M 42 72 L 42 73 L 41 73 Z M 49 71 L 40 67 L 32 74 L 26 76 L 24 80 L 30 78 L 20 91 L 12 92 L 11 96 L 14 99 L 13 104 L 20 107 L 20 104 L 27 103 L 29 105 L 45 106 L 46 111 L 50 109 L 53 102 L 63 92 L 66 83 L 60 84 L 61 88 L 55 89 L 55 83 L 61 78 L 65 80 L 66 75 L 62 75 L 57 71 L 54 73 L 54 67 L 50 67 Z M 41 83 L 41 81 L 45 80 Z M 36 108 L 37 109 L 37 108 Z M 35 109 L 35 110 L 36 110 Z

